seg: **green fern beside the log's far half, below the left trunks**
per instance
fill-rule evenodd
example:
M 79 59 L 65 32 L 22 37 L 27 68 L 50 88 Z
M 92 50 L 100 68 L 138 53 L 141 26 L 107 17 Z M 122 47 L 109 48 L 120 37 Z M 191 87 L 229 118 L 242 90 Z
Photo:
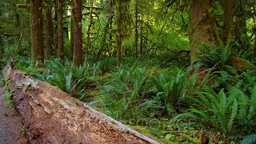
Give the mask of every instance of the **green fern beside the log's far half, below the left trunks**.
M 99 64 L 78 67 L 68 61 L 62 64 L 59 59 L 46 62 L 46 68 L 49 70 L 46 81 L 70 94 L 83 90 L 100 73 Z

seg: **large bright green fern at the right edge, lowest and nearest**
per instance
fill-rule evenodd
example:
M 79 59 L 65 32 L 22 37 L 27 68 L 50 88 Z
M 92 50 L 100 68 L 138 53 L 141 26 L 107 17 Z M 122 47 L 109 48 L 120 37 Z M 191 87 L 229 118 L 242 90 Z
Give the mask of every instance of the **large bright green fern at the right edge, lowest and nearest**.
M 194 101 L 190 112 L 178 114 L 174 121 L 180 118 L 193 118 L 203 126 L 210 126 L 223 134 L 235 134 L 236 130 L 239 130 L 240 134 L 250 134 L 254 131 L 256 86 L 250 95 L 246 95 L 235 86 L 228 93 L 222 89 L 217 94 L 210 88 L 195 93 L 197 97 L 190 98 Z

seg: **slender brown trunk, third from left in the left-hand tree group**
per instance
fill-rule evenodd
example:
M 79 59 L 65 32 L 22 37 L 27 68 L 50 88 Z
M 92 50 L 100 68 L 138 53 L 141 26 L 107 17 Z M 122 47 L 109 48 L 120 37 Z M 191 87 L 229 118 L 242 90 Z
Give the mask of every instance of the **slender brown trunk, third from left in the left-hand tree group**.
M 58 58 L 64 59 L 63 0 L 58 0 Z

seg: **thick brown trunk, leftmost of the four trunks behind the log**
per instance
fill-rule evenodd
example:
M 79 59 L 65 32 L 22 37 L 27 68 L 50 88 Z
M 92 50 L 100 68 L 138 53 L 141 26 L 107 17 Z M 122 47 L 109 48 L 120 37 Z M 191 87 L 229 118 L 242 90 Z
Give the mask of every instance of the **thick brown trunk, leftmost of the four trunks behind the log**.
M 43 42 L 42 42 L 42 0 L 31 0 L 31 66 L 35 63 L 43 63 Z

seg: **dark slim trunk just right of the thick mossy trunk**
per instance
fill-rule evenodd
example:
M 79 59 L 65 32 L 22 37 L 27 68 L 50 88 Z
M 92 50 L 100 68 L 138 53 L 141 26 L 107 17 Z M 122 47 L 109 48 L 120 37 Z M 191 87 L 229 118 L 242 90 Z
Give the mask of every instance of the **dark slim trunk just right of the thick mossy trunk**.
M 226 43 L 230 37 L 230 28 L 232 24 L 232 14 L 233 14 L 233 0 L 225 1 L 225 10 L 224 10 L 224 24 L 223 24 L 223 43 Z

